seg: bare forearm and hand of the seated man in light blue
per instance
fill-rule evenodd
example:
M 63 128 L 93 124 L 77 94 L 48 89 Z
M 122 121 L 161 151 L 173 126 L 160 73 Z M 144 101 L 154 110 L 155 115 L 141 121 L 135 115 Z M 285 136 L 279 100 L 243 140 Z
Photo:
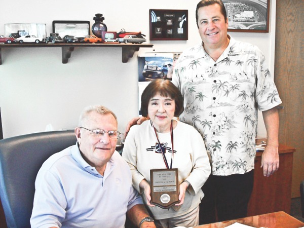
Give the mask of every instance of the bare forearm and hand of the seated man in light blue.
M 127 216 L 133 222 L 133 224 L 139 227 L 141 220 L 145 217 L 149 217 L 150 215 L 148 214 L 143 204 L 136 204 L 127 212 Z M 144 221 L 141 223 L 140 228 L 145 227 L 155 228 L 156 226 L 154 222 Z

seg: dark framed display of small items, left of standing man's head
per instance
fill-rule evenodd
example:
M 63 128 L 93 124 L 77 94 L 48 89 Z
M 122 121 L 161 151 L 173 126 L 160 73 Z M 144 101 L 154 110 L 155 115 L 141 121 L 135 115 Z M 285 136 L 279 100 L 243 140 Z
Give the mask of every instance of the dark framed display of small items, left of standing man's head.
M 188 40 L 187 10 L 149 10 L 150 40 Z

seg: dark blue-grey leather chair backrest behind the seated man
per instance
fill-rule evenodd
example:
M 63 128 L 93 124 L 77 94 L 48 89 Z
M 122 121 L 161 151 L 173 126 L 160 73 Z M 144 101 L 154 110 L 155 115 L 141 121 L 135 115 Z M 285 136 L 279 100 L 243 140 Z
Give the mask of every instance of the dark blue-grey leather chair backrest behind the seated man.
M 8 227 L 30 227 L 35 178 L 53 154 L 74 145 L 74 131 L 51 131 L 0 140 L 0 197 Z

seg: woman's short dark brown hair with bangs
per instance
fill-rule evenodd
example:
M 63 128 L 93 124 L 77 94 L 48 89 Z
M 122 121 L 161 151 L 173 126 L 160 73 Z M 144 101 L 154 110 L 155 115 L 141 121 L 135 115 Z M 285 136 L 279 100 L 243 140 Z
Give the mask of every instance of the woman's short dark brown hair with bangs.
M 179 89 L 170 80 L 156 79 L 150 82 L 141 94 L 140 110 L 143 117 L 148 116 L 149 101 L 158 93 L 175 101 L 174 117 L 178 117 L 183 112 L 183 97 Z

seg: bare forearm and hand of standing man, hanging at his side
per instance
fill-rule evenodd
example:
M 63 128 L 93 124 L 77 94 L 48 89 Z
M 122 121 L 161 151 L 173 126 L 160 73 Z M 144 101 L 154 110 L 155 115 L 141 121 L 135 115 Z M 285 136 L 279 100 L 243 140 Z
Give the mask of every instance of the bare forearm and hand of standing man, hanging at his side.
M 261 167 L 264 176 L 270 176 L 279 169 L 279 113 L 277 106 L 262 111 L 267 130 L 267 145 L 262 154 Z

